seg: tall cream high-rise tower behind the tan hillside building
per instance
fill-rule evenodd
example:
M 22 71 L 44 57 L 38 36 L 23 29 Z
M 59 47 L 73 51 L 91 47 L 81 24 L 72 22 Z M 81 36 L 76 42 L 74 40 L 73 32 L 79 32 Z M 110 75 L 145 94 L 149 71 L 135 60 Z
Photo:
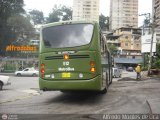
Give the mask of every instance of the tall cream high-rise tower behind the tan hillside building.
M 110 30 L 138 27 L 138 0 L 110 1 Z

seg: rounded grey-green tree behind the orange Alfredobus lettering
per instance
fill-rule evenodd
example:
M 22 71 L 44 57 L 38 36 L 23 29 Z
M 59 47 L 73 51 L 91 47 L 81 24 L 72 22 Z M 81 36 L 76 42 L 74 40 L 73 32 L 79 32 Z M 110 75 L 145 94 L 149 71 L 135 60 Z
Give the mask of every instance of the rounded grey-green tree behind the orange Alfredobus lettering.
M 12 15 L 8 18 L 7 25 L 10 28 L 8 33 L 11 36 L 7 40 L 11 45 L 27 45 L 28 40 L 34 34 L 33 25 L 30 23 L 30 19 L 24 15 Z M 8 51 L 6 55 L 22 57 L 28 54 L 21 51 Z

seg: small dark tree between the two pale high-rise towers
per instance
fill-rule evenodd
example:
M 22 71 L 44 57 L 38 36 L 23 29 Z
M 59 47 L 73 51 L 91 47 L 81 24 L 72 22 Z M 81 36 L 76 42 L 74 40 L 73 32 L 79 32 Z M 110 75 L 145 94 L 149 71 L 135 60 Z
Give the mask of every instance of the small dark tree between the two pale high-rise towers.
M 109 17 L 105 17 L 103 14 L 99 16 L 99 25 L 101 29 L 109 29 Z

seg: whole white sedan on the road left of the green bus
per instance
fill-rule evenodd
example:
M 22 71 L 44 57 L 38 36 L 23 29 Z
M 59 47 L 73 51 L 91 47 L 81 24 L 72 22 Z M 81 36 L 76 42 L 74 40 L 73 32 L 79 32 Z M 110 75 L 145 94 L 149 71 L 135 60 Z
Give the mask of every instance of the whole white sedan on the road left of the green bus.
M 15 72 L 16 76 L 38 76 L 38 74 L 39 71 L 34 68 L 25 68 L 24 70 Z

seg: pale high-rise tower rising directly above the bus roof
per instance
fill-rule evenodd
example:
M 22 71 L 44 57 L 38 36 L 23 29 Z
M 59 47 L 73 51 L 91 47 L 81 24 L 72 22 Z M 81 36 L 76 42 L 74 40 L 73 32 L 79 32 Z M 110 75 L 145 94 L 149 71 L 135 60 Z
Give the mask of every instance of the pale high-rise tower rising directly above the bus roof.
M 99 21 L 99 0 L 73 0 L 73 20 Z

